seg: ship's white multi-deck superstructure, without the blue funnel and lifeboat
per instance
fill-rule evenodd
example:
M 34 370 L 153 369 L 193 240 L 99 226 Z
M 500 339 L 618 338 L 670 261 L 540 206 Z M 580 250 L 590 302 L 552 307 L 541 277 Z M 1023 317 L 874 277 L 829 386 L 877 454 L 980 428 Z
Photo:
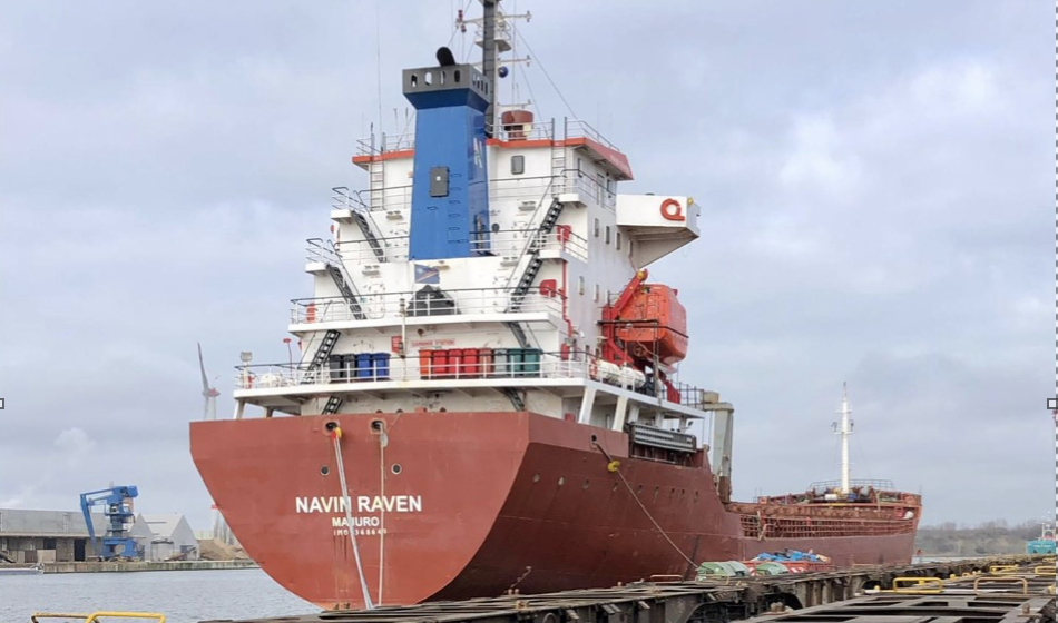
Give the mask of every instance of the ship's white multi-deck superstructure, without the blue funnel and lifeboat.
M 420 79 L 452 80 L 445 67 L 410 71 L 405 92 Z M 530 411 L 685 431 L 712 413 L 722 416 L 714 446 L 724 448 L 714 474 L 729 474 L 731 405 L 676 383 L 678 364 L 640 369 L 604 356 L 604 308 L 698 237 L 697 205 L 620 194 L 628 159 L 582 121 L 499 110 L 483 155 L 473 155 L 488 169 L 480 257 L 409 259 L 415 136 L 357 141 L 353 164 L 366 188 L 333 189 L 331 236 L 308 241 L 313 297 L 291 309 L 301 359 L 241 366 L 235 417 L 247 405 L 267 417 Z

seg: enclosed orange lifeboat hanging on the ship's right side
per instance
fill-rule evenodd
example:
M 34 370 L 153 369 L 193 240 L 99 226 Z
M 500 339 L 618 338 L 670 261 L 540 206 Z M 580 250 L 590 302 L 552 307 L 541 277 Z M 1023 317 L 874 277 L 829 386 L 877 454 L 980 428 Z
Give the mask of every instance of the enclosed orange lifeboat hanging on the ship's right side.
M 676 290 L 644 284 L 617 317 L 617 337 L 638 359 L 657 358 L 672 366 L 687 356 L 687 310 Z

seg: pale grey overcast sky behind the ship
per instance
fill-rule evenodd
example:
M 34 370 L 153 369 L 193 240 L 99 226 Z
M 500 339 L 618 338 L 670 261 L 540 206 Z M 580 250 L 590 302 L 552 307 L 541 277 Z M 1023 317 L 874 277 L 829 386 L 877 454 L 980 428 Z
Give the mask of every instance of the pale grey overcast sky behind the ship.
M 286 359 L 379 68 L 392 131 L 457 1 L 0 0 L 0 507 L 114 482 L 208 527 L 195 343 L 222 416 L 239 350 Z M 1051 510 L 1048 2 L 526 9 L 539 116 L 601 127 L 624 191 L 702 206 L 652 274 L 689 312 L 683 379 L 737 409 L 738 497 L 837 476 L 848 380 L 853 475 L 927 523 Z

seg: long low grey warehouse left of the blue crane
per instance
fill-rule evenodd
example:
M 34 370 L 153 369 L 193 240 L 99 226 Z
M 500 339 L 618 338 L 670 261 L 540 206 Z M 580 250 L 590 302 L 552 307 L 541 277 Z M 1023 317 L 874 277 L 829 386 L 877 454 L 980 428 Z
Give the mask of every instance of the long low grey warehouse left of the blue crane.
M 92 525 L 105 533 L 106 517 L 92 516 Z M 0 508 L 0 564 L 78 562 L 95 555 L 80 512 Z

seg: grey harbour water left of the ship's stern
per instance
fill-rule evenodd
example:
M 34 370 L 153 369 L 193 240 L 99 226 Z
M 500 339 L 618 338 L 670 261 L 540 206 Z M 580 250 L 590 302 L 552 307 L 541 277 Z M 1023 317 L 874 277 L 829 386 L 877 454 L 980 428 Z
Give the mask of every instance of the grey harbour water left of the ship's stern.
M 160 612 L 167 623 L 307 614 L 320 609 L 258 568 L 66 573 L 0 577 L 0 622 L 30 614 L 124 610 Z

